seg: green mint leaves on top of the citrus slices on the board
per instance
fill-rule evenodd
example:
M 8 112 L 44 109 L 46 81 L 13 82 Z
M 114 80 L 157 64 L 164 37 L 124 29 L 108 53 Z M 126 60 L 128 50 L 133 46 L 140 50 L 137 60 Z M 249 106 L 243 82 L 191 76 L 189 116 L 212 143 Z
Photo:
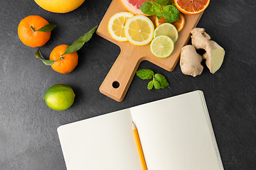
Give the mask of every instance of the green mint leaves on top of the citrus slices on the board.
M 140 9 L 147 15 L 156 15 L 158 19 L 164 16 L 165 21 L 168 23 L 178 21 L 180 16 L 180 11 L 178 11 L 173 1 L 170 0 L 145 1 Z

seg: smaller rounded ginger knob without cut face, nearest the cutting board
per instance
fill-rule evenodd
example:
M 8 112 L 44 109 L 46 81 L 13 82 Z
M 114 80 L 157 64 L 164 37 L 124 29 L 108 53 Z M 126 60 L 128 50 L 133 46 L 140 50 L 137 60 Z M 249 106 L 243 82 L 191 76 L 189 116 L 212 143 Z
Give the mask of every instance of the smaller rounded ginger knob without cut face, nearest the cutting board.
M 203 57 L 198 55 L 195 47 L 192 45 L 186 45 L 181 49 L 181 72 L 186 75 L 196 77 L 203 72 L 203 66 L 201 62 Z

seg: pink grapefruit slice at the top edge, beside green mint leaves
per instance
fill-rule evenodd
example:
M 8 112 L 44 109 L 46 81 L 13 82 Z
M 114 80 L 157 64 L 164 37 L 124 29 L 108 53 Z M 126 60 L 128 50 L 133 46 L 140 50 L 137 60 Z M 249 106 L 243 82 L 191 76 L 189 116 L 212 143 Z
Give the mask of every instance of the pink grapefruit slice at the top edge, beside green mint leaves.
M 134 15 L 144 15 L 140 10 L 140 7 L 145 1 L 154 1 L 154 0 L 120 0 L 124 8 L 127 9 L 130 13 Z

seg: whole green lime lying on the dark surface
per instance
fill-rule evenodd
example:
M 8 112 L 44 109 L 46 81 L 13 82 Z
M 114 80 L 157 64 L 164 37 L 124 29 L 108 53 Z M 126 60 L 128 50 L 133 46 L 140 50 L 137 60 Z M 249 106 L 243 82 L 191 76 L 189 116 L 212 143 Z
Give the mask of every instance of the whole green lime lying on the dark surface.
M 46 91 L 43 99 L 49 108 L 55 111 L 64 111 L 73 105 L 75 93 L 68 85 L 55 84 Z

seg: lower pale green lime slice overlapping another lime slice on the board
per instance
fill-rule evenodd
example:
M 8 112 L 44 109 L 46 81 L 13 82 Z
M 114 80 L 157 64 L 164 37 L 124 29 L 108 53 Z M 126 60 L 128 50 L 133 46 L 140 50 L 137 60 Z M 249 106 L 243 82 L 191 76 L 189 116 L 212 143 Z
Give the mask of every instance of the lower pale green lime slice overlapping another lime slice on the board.
M 156 57 L 169 57 L 174 51 L 174 41 L 166 35 L 159 35 L 152 40 L 150 50 Z

